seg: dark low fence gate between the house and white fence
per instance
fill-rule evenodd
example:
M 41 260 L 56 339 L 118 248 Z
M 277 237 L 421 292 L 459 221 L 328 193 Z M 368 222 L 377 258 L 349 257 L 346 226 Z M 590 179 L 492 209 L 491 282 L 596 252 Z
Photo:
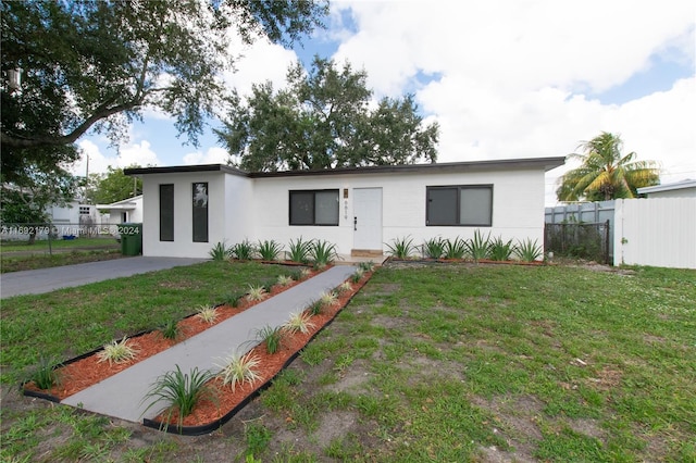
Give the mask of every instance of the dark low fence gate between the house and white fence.
M 582 258 L 611 264 L 609 221 L 599 223 L 545 224 L 544 249 L 556 255 Z

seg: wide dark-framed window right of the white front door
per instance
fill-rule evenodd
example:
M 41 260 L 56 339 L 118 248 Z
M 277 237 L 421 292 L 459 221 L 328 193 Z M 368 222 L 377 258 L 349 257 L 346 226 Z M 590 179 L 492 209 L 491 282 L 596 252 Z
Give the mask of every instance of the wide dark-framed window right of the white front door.
M 493 225 L 493 185 L 426 187 L 425 225 Z

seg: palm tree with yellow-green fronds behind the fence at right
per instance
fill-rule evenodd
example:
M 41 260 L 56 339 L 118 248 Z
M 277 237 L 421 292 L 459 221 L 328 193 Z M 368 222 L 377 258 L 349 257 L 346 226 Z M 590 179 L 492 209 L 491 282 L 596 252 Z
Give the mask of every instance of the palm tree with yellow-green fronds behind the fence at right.
M 659 185 L 660 170 L 655 161 L 634 161 L 635 152 L 621 154 L 623 141 L 619 135 L 602 132 L 577 147 L 584 153 L 573 153 L 582 165 L 569 171 L 556 190 L 559 201 L 601 201 L 635 198 L 637 188 Z

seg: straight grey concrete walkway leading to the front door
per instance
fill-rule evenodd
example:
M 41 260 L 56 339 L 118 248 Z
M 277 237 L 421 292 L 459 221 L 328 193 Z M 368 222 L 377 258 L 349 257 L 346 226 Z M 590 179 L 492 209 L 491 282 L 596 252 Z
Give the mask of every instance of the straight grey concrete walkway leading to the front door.
M 237 351 L 246 353 L 256 342 L 256 331 L 264 326 L 283 325 L 294 312 L 307 309 L 322 292 L 331 290 L 348 279 L 357 270 L 352 265 L 337 265 L 293 288 L 281 292 L 224 322 L 160 352 L 123 372 L 104 379 L 63 400 L 73 406 L 114 416 L 130 422 L 153 418 L 165 406 L 149 405 L 144 400 L 158 376 L 175 370 L 184 373 L 191 368 L 219 371 L 216 363 Z

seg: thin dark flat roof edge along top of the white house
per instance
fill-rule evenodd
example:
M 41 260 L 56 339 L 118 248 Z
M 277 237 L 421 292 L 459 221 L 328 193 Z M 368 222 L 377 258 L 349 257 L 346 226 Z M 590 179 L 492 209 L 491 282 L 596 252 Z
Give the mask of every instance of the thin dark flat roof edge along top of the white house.
M 192 172 L 222 172 L 249 178 L 295 177 L 346 174 L 398 174 L 451 171 L 505 171 L 508 168 L 544 168 L 548 172 L 566 163 L 564 157 L 523 158 L 487 161 L 443 162 L 432 164 L 370 165 L 363 167 L 322 168 L 315 171 L 246 172 L 226 164 L 174 165 L 167 167 L 130 167 L 125 175 L 179 174 Z

